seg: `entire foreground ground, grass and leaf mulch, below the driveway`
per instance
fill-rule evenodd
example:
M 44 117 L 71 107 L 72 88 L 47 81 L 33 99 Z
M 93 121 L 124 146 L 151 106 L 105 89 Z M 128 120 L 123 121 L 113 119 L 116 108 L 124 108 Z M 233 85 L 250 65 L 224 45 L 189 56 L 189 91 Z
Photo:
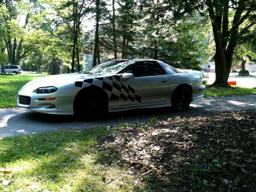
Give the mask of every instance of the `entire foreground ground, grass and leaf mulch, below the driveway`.
M 256 191 L 256 110 L 0 140 L 0 191 Z

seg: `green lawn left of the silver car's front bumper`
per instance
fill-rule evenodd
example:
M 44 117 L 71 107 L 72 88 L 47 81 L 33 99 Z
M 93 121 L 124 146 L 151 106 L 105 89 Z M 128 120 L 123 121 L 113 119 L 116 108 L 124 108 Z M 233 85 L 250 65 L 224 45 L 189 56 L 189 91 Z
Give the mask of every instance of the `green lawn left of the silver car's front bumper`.
M 0 76 L 0 108 L 16 107 L 20 88 L 34 78 L 44 76 L 47 75 L 32 72 L 24 72 L 15 76 Z

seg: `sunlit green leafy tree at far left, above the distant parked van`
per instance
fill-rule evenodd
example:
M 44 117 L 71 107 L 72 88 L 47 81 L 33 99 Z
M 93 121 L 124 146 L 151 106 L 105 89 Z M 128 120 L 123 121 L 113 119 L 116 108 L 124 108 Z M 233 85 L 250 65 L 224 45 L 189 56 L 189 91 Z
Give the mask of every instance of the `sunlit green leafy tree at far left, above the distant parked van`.
M 26 44 L 26 35 L 32 27 L 30 17 L 40 12 L 42 6 L 39 6 L 37 0 L 4 0 L 3 6 L 4 11 L 1 14 L 3 20 L 2 39 L 6 44 L 10 64 L 18 65 L 30 48 L 30 45 Z M 18 18 L 24 18 L 24 23 L 20 24 Z

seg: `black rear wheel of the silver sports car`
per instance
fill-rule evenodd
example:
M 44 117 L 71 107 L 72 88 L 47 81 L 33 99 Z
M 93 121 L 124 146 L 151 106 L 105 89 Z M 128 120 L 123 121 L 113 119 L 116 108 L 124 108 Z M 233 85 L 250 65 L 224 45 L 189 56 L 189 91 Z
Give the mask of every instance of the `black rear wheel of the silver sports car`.
M 190 90 L 186 87 L 181 87 L 175 90 L 172 94 L 171 104 L 174 110 L 184 111 L 191 102 Z

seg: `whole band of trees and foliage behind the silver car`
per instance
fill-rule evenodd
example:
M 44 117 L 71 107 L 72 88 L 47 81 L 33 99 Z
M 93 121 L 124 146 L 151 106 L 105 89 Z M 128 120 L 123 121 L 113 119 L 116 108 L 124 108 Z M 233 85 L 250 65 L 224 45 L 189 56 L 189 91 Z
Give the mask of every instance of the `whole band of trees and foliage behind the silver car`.
M 54 59 L 76 72 L 116 58 L 200 70 L 214 58 L 214 84 L 228 86 L 232 64 L 255 58 L 255 12 L 254 0 L 1 0 L 0 48 L 39 72 Z

